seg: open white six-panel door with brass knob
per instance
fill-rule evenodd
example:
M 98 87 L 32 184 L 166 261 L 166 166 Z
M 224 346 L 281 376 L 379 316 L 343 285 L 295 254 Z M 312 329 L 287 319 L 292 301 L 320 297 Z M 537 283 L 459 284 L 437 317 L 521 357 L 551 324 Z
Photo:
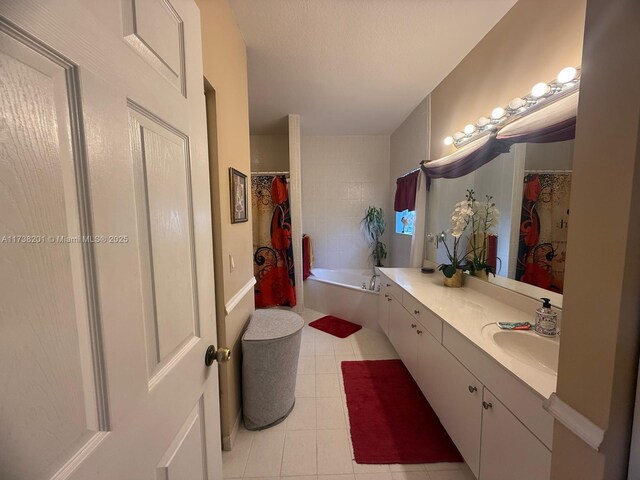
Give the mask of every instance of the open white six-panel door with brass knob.
M 221 478 L 199 12 L 0 0 L 0 478 Z

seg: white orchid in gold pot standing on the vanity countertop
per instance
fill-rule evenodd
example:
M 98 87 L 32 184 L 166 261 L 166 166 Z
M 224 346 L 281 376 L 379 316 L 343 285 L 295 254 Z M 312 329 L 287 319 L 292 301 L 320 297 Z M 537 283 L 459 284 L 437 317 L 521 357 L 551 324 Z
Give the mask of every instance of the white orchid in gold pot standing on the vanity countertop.
M 436 237 L 436 247 L 442 243 L 449 259 L 449 263 L 442 263 L 438 266 L 438 270 L 445 277 L 444 284 L 448 287 L 462 286 L 462 272 L 468 269 L 467 254 L 462 254 L 460 240 L 463 238 L 462 234 L 469 226 L 469 223 L 471 223 L 472 217 L 473 209 L 469 199 L 458 202 L 451 214 L 451 229 L 448 230 L 453 237 L 453 248 L 449 248 L 449 245 L 447 245 L 445 232 Z

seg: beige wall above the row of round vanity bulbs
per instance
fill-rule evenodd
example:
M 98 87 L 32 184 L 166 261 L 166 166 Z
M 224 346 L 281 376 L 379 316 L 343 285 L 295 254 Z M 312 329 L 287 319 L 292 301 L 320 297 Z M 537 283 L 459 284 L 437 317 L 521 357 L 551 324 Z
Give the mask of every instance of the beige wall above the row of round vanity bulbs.
M 431 156 L 443 139 L 581 63 L 586 0 L 520 0 L 431 93 Z

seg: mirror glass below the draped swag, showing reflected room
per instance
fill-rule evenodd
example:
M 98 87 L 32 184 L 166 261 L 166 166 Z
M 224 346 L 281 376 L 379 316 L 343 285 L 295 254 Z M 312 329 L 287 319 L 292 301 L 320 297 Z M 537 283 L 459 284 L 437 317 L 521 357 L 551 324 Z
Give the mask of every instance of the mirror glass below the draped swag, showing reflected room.
M 490 281 L 514 286 L 501 280 L 506 278 L 562 294 L 573 143 L 515 144 L 464 177 L 432 180 L 426 258 L 447 263 L 446 250 L 436 248 L 435 237 L 450 231 L 454 206 L 472 190 L 478 202 L 490 197 L 500 212 L 486 242 L 487 263 L 497 275 L 490 275 Z M 474 240 L 477 249 L 484 239 L 471 238 L 470 231 L 465 232 L 461 248 L 471 253 Z

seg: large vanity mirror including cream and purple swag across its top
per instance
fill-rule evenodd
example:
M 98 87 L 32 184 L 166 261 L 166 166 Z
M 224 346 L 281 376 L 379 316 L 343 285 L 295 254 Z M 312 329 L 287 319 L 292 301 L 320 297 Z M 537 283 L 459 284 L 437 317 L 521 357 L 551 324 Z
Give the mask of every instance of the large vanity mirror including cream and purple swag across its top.
M 487 280 L 534 298 L 549 297 L 562 307 L 577 85 L 567 93 L 498 129 L 497 137 L 485 136 L 468 151 L 463 147 L 423 166 L 430 178 L 427 260 L 450 263 L 436 239 L 450 231 L 455 205 L 472 191 L 479 202 L 490 198 L 500 212 L 488 248 L 495 275 Z M 462 251 L 471 248 L 469 230 Z

